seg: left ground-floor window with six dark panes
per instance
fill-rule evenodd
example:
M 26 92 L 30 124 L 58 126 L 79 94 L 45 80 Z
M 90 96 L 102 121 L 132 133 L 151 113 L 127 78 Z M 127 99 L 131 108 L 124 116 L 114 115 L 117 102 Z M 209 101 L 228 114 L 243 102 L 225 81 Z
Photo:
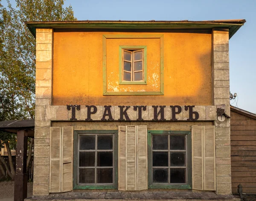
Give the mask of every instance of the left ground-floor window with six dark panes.
M 115 188 L 117 131 L 79 130 L 74 135 L 74 188 Z

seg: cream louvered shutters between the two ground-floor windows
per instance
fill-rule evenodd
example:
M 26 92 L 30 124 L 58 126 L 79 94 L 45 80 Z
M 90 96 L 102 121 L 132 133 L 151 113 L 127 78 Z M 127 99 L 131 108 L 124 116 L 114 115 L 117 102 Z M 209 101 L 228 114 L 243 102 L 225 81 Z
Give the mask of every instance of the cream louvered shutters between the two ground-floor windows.
M 147 190 L 147 126 L 119 126 L 118 130 L 118 190 Z

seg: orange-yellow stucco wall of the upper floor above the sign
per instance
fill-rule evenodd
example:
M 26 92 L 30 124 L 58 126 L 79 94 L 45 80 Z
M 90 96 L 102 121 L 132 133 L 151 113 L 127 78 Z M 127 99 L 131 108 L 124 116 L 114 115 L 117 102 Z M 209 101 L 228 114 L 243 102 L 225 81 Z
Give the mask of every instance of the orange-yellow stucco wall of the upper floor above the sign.
M 103 96 L 102 35 L 163 34 L 164 95 Z M 54 32 L 53 105 L 212 105 L 212 36 L 209 33 Z M 148 85 L 118 85 L 118 45 L 147 45 Z M 119 91 L 158 91 L 160 39 L 107 39 L 107 82 Z M 115 48 L 111 48 L 115 47 Z M 109 59 L 109 55 L 113 55 Z M 116 71 L 116 74 L 111 72 Z M 113 76 L 111 76 L 113 75 Z M 107 85 L 108 86 L 108 85 Z M 113 90 L 108 88 L 108 90 Z

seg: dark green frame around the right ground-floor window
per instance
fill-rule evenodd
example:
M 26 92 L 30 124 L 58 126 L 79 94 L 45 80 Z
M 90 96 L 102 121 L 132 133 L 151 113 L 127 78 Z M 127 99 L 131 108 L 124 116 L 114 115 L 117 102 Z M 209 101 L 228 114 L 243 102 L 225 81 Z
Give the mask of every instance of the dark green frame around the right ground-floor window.
M 152 134 L 174 134 L 187 135 L 187 184 L 169 185 L 153 184 L 152 181 Z M 173 131 L 173 130 L 148 130 L 148 189 L 192 189 L 192 148 L 191 131 Z

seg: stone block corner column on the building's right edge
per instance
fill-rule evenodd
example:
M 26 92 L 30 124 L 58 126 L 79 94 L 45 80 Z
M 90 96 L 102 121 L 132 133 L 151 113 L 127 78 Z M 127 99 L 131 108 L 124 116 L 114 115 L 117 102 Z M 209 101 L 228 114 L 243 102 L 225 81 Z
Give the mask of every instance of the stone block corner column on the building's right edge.
M 230 116 L 230 73 L 229 73 L 229 30 L 212 29 L 212 102 L 213 105 L 225 105 Z M 214 121 L 216 150 L 216 194 L 230 195 L 231 155 L 230 155 L 230 119 L 224 122 Z

